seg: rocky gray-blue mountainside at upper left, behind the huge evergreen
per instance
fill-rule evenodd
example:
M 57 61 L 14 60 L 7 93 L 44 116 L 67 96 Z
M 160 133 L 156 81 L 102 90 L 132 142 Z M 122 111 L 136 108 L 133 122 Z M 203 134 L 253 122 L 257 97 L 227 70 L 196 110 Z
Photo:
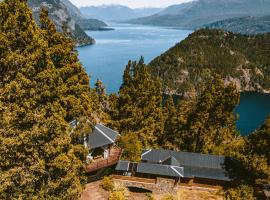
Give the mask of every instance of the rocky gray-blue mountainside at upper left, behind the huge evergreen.
M 80 10 L 68 0 L 28 0 L 27 2 L 33 10 L 37 23 L 39 22 L 39 12 L 42 6 L 48 8 L 49 15 L 58 31 L 62 31 L 63 23 L 66 23 L 78 46 L 95 42 L 84 30 L 100 30 L 107 26 L 100 20 L 86 19 Z

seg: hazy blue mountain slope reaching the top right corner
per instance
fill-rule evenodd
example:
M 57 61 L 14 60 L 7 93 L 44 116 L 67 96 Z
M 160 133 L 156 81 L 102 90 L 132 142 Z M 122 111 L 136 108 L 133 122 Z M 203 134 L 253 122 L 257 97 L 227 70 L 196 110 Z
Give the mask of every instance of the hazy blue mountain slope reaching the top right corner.
M 195 29 L 224 19 L 267 14 L 270 14 L 269 0 L 197 0 L 128 23 Z

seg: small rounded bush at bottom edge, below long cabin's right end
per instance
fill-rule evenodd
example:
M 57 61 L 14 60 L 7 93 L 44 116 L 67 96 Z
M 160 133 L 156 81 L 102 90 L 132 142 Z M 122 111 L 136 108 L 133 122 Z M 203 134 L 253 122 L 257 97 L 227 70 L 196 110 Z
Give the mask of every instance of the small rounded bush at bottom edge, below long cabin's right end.
M 225 197 L 227 200 L 253 200 L 255 199 L 253 188 L 247 185 L 240 185 L 226 191 Z

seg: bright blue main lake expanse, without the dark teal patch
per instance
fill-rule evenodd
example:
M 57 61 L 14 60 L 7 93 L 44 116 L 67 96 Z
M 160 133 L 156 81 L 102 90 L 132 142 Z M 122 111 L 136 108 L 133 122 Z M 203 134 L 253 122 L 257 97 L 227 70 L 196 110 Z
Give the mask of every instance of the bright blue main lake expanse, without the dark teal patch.
M 89 31 L 96 44 L 78 48 L 80 60 L 92 77 L 91 85 L 99 78 L 108 93 L 119 90 L 123 71 L 130 59 L 138 60 L 143 56 L 148 63 L 192 32 L 125 24 L 112 27 L 114 31 Z

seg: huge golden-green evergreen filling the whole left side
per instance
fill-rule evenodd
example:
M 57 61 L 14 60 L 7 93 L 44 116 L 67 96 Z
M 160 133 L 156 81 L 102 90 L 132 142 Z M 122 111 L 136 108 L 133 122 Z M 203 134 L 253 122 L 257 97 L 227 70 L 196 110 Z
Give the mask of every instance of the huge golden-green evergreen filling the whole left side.
M 85 183 L 89 78 L 46 10 L 40 22 L 26 1 L 0 3 L 0 199 L 77 199 Z

